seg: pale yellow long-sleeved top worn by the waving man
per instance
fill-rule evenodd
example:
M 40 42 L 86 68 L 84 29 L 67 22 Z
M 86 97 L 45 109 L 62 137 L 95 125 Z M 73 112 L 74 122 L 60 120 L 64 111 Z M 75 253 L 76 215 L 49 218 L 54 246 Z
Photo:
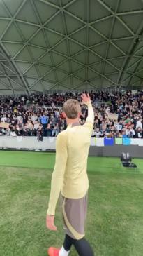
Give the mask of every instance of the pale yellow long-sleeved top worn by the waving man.
M 91 102 L 87 102 L 88 116 L 83 126 L 69 125 L 57 136 L 56 162 L 52 173 L 48 215 L 55 214 L 59 194 L 66 198 L 84 197 L 89 180 L 86 173 L 87 158 L 93 130 L 94 114 Z

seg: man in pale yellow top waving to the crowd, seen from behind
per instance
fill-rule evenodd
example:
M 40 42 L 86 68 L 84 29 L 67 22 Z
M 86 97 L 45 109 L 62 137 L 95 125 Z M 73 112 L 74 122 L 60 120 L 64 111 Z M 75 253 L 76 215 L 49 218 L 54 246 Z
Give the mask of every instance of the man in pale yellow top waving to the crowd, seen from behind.
M 68 127 L 57 136 L 56 162 L 52 173 L 46 223 L 48 229 L 57 230 L 54 225 L 54 215 L 61 192 L 66 236 L 61 249 L 53 247 L 48 249 L 49 256 L 68 256 L 72 245 L 75 246 L 78 255 L 93 256 L 93 250 L 84 238 L 84 222 L 89 189 L 86 173 L 87 158 L 94 114 L 89 95 L 82 94 L 82 102 L 88 107 L 88 116 L 83 126 L 79 123 L 80 102 L 70 99 L 63 105 L 63 115 Z

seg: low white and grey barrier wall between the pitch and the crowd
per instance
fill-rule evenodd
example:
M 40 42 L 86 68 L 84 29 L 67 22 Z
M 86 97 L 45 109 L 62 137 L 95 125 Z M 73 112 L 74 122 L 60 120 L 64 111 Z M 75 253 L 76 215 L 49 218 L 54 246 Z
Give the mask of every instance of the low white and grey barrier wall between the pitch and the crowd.
M 120 140 L 121 143 L 122 140 Z M 122 152 L 129 152 L 132 157 L 143 157 L 143 139 L 132 139 L 130 145 L 116 144 L 116 140 L 112 140 L 114 144 L 105 146 L 106 141 L 91 138 L 91 147 L 89 156 L 121 156 Z M 110 142 L 110 140 L 109 140 Z M 0 149 L 10 150 L 32 150 L 32 151 L 55 151 L 56 137 L 43 137 L 43 141 L 39 141 L 37 137 L 0 137 Z

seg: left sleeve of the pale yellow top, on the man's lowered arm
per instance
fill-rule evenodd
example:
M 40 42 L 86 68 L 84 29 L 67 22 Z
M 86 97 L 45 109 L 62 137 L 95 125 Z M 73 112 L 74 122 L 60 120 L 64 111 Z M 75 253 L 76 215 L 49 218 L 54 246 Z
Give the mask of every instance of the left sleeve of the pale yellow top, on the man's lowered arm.
M 68 152 L 65 133 L 59 133 L 56 141 L 56 162 L 52 173 L 50 200 L 47 209 L 48 215 L 55 215 L 57 201 L 63 184 L 63 176 L 66 170 L 67 156 Z

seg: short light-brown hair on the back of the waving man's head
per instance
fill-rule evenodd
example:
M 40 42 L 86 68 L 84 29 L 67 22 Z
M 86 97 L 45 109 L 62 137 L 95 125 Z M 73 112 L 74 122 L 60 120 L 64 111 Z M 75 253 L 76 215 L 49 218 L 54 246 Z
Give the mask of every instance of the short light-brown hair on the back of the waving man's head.
M 63 112 L 66 113 L 68 119 L 76 119 L 81 112 L 80 103 L 74 99 L 67 100 L 63 104 Z

